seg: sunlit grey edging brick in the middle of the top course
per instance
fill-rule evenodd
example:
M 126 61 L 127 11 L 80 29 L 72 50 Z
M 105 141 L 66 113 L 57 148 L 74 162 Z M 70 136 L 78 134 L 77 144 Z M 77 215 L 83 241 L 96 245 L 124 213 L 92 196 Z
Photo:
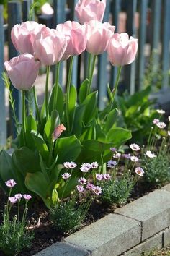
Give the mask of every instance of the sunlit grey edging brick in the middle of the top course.
M 91 256 L 117 256 L 139 244 L 140 234 L 138 221 L 109 214 L 64 240 L 88 250 Z

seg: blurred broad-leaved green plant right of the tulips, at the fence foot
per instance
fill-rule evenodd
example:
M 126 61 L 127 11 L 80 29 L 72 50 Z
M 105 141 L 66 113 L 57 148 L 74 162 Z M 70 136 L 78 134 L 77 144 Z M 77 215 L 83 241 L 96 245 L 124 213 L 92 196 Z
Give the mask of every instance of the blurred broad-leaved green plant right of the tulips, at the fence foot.
M 124 93 L 117 97 L 115 106 L 122 114 L 122 127 L 132 131 L 133 141 L 142 144 L 148 137 L 152 120 L 156 118 L 153 101 L 149 100 L 151 87 L 134 95 Z

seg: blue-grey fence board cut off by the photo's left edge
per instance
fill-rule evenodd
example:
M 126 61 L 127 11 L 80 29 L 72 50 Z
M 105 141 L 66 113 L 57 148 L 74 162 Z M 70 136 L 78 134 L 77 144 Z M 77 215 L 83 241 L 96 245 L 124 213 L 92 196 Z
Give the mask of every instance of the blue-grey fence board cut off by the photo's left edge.
M 0 5 L 0 145 L 6 143 L 6 109 L 5 109 L 5 88 L 1 73 L 4 71 L 4 18 L 3 5 Z

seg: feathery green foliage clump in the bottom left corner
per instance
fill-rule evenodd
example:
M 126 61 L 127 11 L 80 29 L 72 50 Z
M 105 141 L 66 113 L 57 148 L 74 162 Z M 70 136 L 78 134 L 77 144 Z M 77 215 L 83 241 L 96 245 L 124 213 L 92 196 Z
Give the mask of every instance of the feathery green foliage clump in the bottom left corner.
M 0 226 L 0 250 L 6 255 L 16 255 L 32 245 L 33 234 L 22 223 L 10 221 L 9 225 Z

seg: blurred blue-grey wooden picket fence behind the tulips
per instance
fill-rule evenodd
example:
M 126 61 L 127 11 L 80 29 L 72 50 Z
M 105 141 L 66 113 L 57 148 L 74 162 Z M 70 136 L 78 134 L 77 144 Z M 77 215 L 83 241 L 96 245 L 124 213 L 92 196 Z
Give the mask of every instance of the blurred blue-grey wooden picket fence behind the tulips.
M 40 22 L 55 28 L 58 23 L 66 20 L 76 20 L 74 7 L 78 0 L 53 0 L 53 17 L 40 16 Z M 3 6 L 0 5 L 0 74 L 4 69 L 4 43 L 8 42 L 9 59 L 17 56 L 17 51 L 12 45 L 10 31 L 12 27 L 28 19 L 32 0 L 8 1 L 8 21 L 4 24 Z M 123 69 L 122 90 L 130 93 L 143 88 L 143 77 L 148 56 L 153 49 L 159 49 L 159 55 L 154 56 L 153 65 L 161 65 L 162 87 L 169 86 L 169 39 L 170 39 L 170 1 L 169 0 L 107 0 L 104 14 L 104 22 L 112 22 L 116 25 L 116 32 L 125 30 L 129 35 L 139 39 L 138 58 Z M 7 36 L 5 36 L 7 35 Z M 7 38 L 6 38 L 7 37 Z M 79 88 L 80 84 L 80 57 L 76 57 L 73 67 L 73 85 Z M 84 67 L 86 67 L 86 54 L 84 55 Z M 113 87 L 117 72 L 116 67 L 111 67 L 107 60 L 107 54 L 102 54 L 98 59 L 98 74 L 94 88 L 99 90 L 99 106 L 104 106 L 103 98 L 107 95 L 107 82 Z M 62 68 L 62 65 L 61 65 Z M 83 73 L 86 73 L 84 68 Z M 84 76 L 81 74 L 81 77 Z M 60 77 L 62 84 L 62 72 Z M 4 83 L 0 77 L 0 145 L 6 142 L 6 111 L 4 99 Z M 18 90 L 13 91 L 16 103 L 17 116 L 20 116 L 21 101 Z

